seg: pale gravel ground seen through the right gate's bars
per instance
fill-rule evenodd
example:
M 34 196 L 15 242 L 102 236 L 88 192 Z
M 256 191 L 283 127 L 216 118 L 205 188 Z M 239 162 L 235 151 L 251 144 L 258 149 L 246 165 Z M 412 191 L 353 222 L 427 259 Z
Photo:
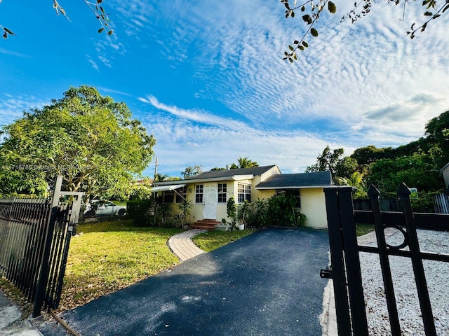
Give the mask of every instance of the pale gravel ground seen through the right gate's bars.
M 417 230 L 417 236 L 421 251 L 449 253 L 449 232 Z M 396 232 L 387 239 L 387 243 L 400 244 L 402 237 L 400 232 Z M 370 335 L 390 335 L 379 256 L 360 253 L 360 260 Z M 403 335 L 424 335 L 411 259 L 390 256 L 389 261 Z M 423 265 L 436 332 L 449 335 L 449 262 L 423 260 Z

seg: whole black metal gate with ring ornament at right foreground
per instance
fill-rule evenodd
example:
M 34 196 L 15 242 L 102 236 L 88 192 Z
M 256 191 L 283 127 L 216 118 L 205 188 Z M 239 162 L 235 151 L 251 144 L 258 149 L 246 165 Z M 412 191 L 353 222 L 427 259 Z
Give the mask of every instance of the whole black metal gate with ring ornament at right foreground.
M 377 253 L 379 255 L 391 335 L 394 336 L 401 335 L 401 325 L 391 279 L 389 255 L 411 258 L 424 330 L 427 336 L 436 335 L 422 260 L 448 262 L 449 255 L 420 251 L 415 218 L 410 205 L 410 189 L 405 184 L 398 188 L 398 197 L 401 200 L 403 209 L 403 214 L 401 215 L 403 220 L 393 224 L 384 224 L 380 211 L 380 193 L 374 186 L 370 186 L 368 195 L 373 206 L 372 223 L 375 225 L 378 247 L 358 246 L 356 220 L 351 197 L 352 187 L 325 188 L 324 193 L 326 195 L 330 262 L 332 267 L 331 269 L 322 269 L 321 277 L 333 279 L 338 335 L 368 336 L 359 251 Z M 405 224 L 405 228 L 399 225 L 401 223 Z M 402 244 L 398 246 L 387 244 L 384 229 L 388 227 L 396 228 L 402 233 Z M 408 250 L 403 249 L 407 247 Z

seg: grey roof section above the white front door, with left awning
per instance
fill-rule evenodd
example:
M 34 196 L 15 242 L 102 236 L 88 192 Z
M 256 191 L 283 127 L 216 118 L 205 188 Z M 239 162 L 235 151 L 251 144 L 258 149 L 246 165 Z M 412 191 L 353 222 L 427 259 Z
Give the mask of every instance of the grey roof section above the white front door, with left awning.
M 179 183 L 196 183 L 202 181 L 238 181 L 242 179 L 253 179 L 255 175 L 262 175 L 268 172 L 269 169 L 276 167 L 276 165 L 263 166 L 263 167 L 250 167 L 250 168 L 239 168 L 239 169 L 223 169 L 223 170 L 213 170 L 210 172 L 203 172 L 195 176 L 187 177 L 187 179 L 177 180 L 177 181 L 161 181 L 155 182 L 156 186 L 165 186 L 170 184 Z

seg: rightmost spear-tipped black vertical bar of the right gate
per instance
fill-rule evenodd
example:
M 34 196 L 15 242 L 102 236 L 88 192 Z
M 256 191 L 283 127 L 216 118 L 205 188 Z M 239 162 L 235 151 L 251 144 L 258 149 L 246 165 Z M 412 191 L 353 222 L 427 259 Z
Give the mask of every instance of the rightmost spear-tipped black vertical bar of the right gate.
M 401 183 L 398 188 L 398 195 L 401 197 L 404 216 L 406 217 L 406 227 L 410 246 L 410 256 L 412 259 L 413 272 L 415 273 L 415 281 L 417 287 L 418 298 L 420 300 L 422 322 L 424 323 L 424 331 L 427 336 L 436 335 L 434 314 L 429 299 L 429 290 L 427 290 L 427 281 L 422 266 L 422 258 L 420 252 L 420 244 L 418 243 L 416 226 L 413 221 L 412 206 L 410 204 L 410 189 L 405 183 Z

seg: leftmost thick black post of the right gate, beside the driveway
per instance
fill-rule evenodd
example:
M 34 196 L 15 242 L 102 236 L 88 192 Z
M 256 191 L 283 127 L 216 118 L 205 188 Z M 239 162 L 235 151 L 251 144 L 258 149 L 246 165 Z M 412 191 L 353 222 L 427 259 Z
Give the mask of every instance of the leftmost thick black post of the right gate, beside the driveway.
M 330 264 L 335 296 L 338 335 L 351 335 L 351 320 L 344 269 L 343 244 L 340 228 L 340 211 L 337 202 L 337 188 L 324 188 L 326 214 L 328 216 Z

